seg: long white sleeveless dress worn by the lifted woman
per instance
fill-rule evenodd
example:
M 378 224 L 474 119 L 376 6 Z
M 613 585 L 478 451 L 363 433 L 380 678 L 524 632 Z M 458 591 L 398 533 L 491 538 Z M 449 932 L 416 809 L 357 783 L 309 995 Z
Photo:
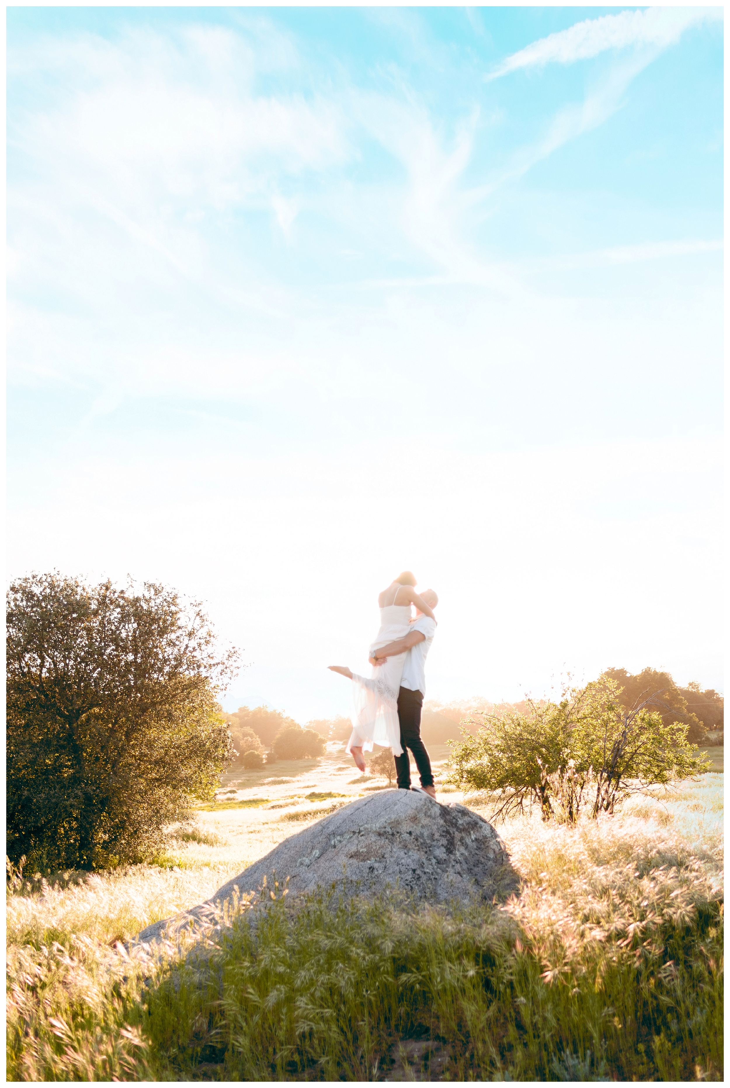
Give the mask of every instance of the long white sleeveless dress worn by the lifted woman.
M 398 595 L 397 590 L 395 595 Z M 368 656 L 388 642 L 405 639 L 411 630 L 410 617 L 410 605 L 386 605 L 381 608 L 380 631 L 375 641 L 370 644 Z M 372 752 L 375 743 L 393 749 L 394 755 L 403 755 L 398 691 L 406 653 L 386 657 L 382 665 L 373 665 L 369 678 L 352 673 L 352 735 L 347 742 L 346 752 L 352 747 Z

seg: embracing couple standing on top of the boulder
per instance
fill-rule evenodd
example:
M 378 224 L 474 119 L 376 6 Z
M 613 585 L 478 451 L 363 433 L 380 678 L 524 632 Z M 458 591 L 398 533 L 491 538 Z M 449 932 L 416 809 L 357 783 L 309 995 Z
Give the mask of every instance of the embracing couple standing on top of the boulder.
M 417 593 L 416 584 L 411 572 L 405 570 L 378 597 L 381 626 L 370 646 L 370 677 L 358 676 L 343 665 L 330 668 L 352 681 L 352 735 L 346 751 L 358 769 L 366 769 L 363 750 L 371 752 L 373 743 L 389 747 L 395 757 L 398 788 L 409 790 L 407 750 L 410 749 L 422 790 L 435 798 L 431 761 L 421 740 L 421 706 L 425 695 L 425 657 L 436 633 L 433 609 L 438 597 L 433 590 Z M 415 618 L 411 606 L 416 608 Z

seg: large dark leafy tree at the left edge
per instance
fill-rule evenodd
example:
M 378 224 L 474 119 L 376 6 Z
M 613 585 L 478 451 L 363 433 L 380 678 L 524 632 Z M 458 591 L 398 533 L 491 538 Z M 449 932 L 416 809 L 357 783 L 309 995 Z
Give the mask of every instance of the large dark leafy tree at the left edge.
M 94 869 L 148 856 L 231 761 L 200 606 L 145 583 L 33 574 L 8 593 L 8 854 Z

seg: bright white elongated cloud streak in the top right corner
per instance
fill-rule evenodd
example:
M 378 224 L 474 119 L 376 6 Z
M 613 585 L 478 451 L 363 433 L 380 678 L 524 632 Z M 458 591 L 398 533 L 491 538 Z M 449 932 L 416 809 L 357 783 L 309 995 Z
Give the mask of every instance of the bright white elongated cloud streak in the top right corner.
M 586 18 L 512 53 L 486 78 L 497 79 L 508 72 L 543 67 L 545 64 L 572 64 L 609 49 L 666 49 L 679 41 L 690 26 L 708 20 L 721 21 L 722 9 L 647 8 L 645 11 L 622 11 L 618 15 Z

